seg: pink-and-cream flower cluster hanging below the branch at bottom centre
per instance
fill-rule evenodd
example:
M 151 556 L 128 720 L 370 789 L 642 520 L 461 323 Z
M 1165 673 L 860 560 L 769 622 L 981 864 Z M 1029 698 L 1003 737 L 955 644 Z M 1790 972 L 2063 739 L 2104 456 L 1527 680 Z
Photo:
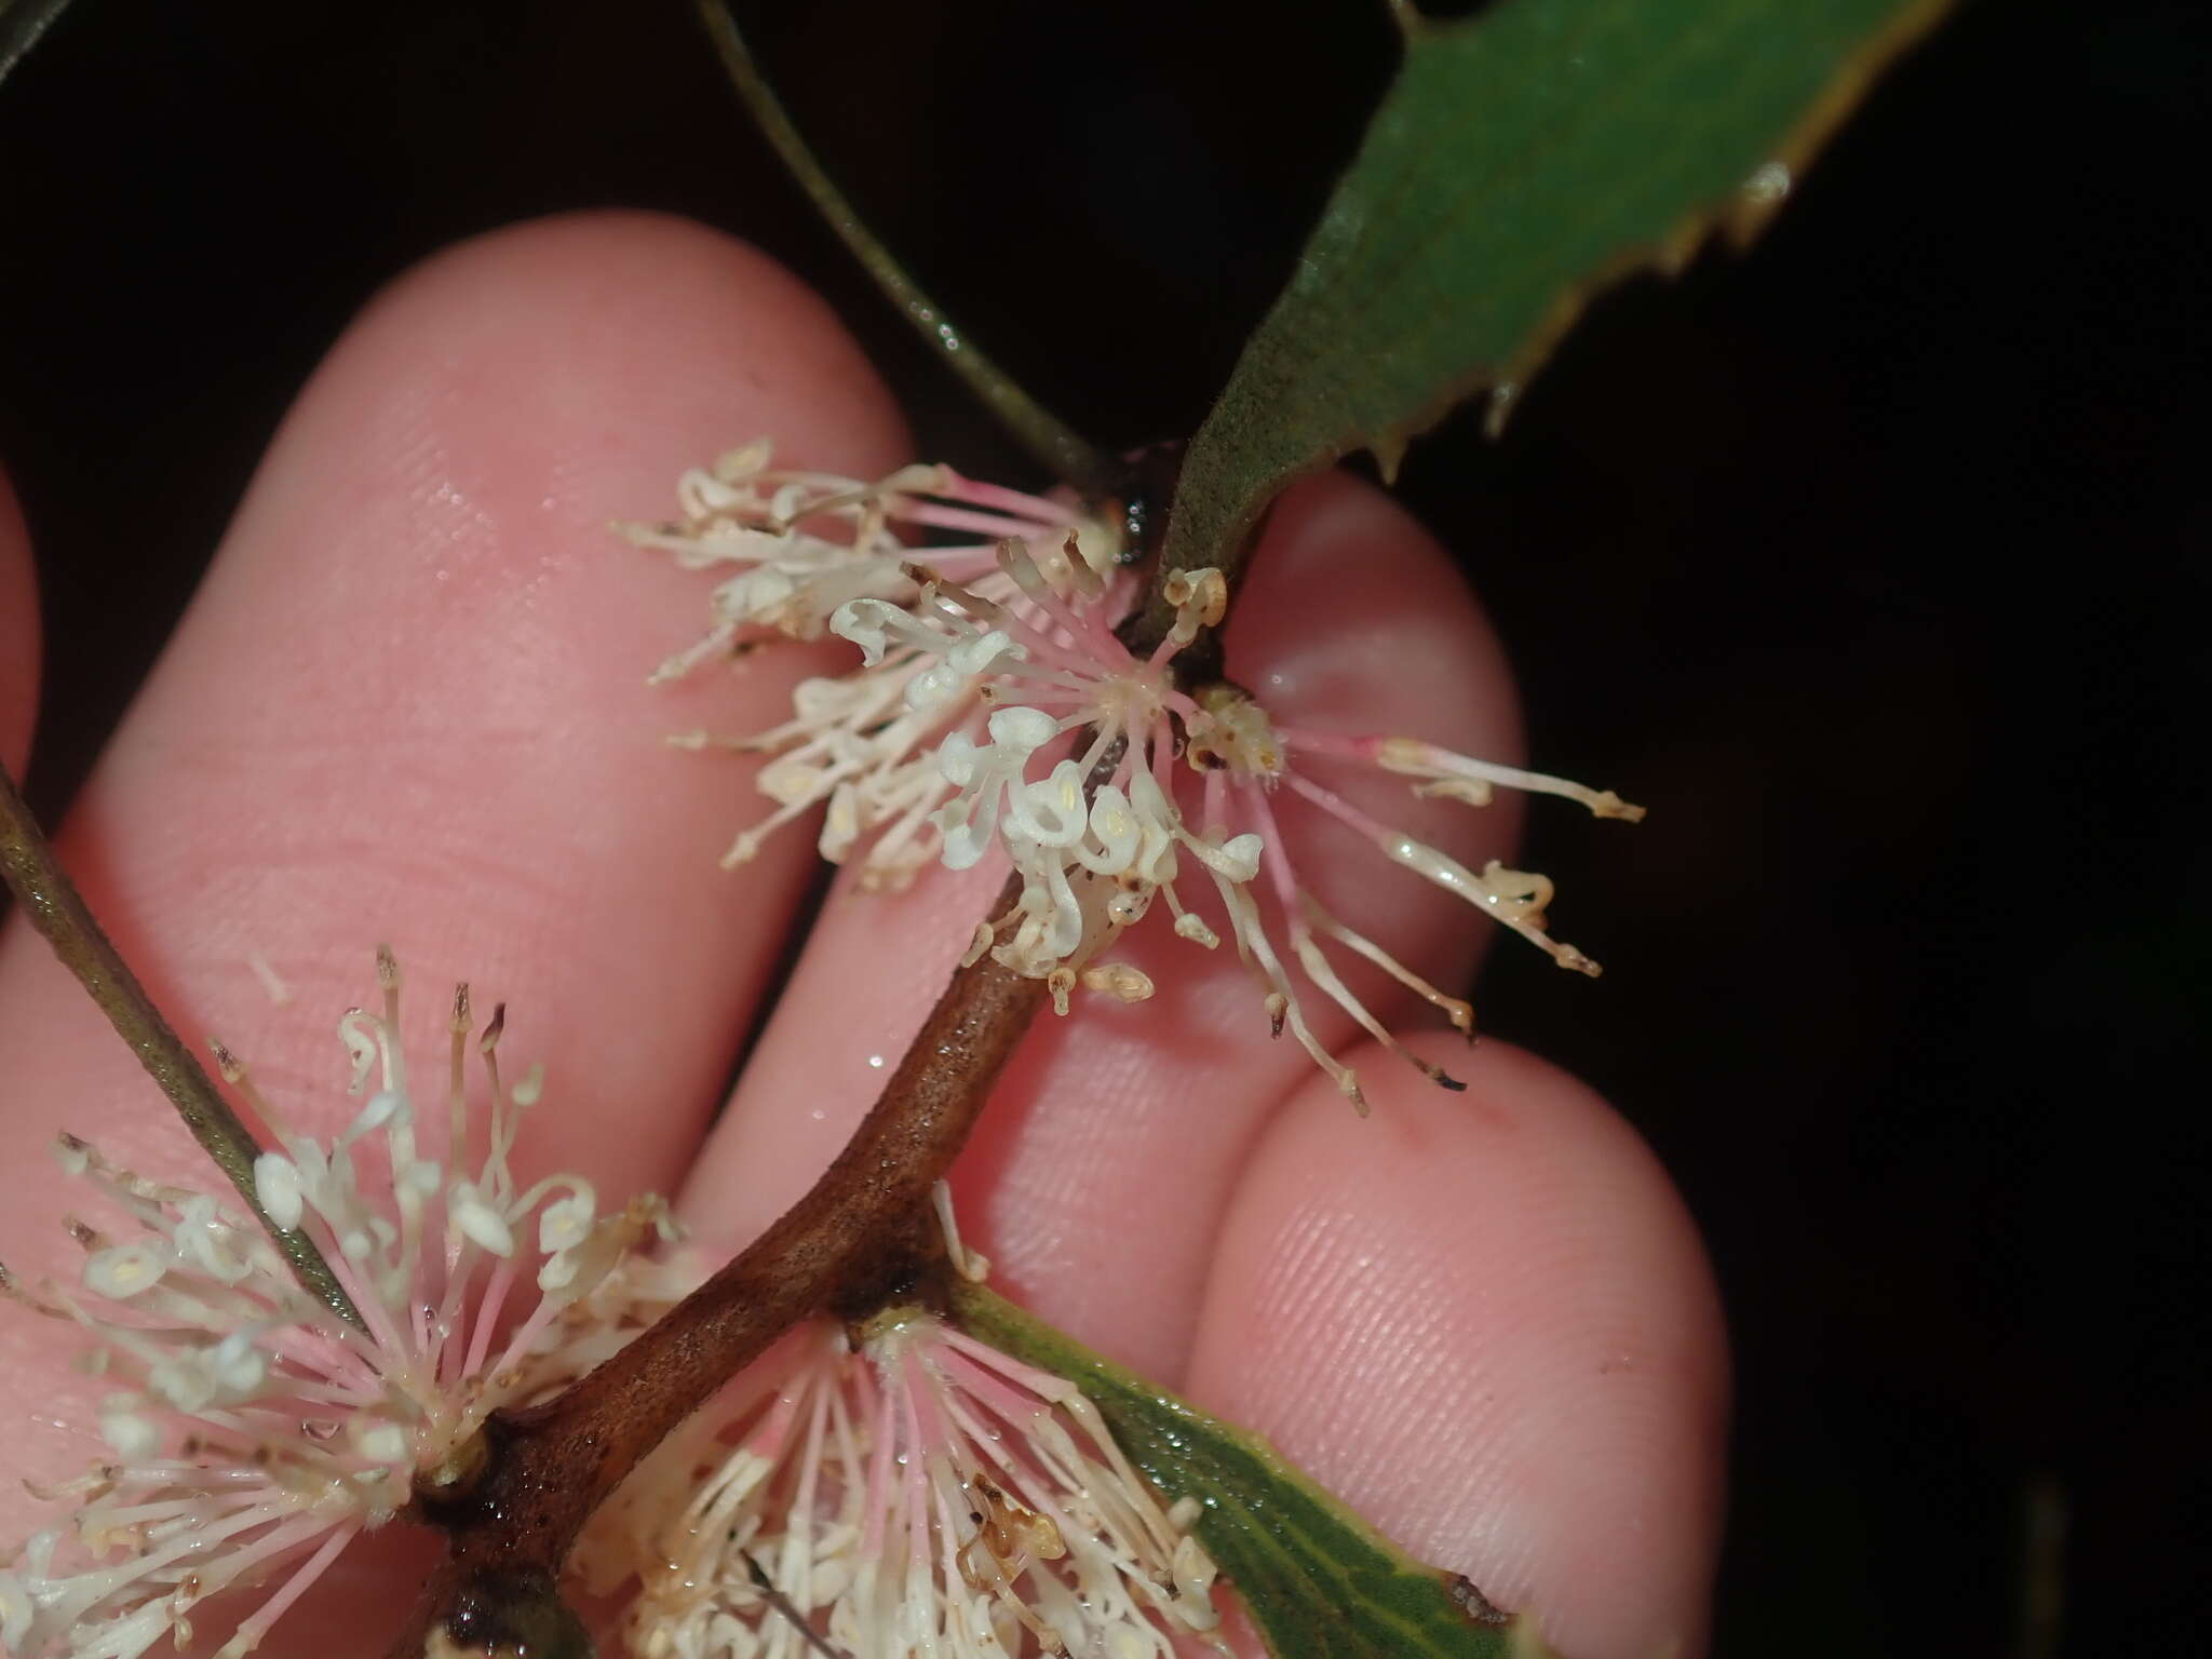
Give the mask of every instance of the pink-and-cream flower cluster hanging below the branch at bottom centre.
M 1164 1511 L 1073 1383 L 922 1310 L 792 1332 L 586 1533 L 639 1659 L 1225 1652 L 1194 1506 Z

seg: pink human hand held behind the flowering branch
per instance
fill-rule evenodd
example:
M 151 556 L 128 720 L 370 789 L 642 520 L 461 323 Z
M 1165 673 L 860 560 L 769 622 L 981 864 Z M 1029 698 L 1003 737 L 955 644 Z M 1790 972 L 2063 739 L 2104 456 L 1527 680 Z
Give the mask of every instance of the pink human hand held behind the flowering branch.
M 646 217 L 524 226 L 434 259 L 301 396 L 62 852 L 179 1029 L 219 1033 L 303 1128 L 349 1115 L 332 1022 L 363 1000 L 380 938 L 422 1029 L 451 980 L 509 1002 L 511 1051 L 549 1068 L 531 1170 L 582 1170 L 613 1199 L 675 1192 L 721 1248 L 794 1199 L 874 1099 L 998 872 L 834 894 L 714 1117 L 812 847 L 790 834 L 721 874 L 754 803 L 730 763 L 659 734 L 768 726 L 801 672 L 847 648 L 648 690 L 697 633 L 703 588 L 606 533 L 757 434 L 856 476 L 914 458 L 816 299 L 737 243 Z M 33 703 L 11 633 L 24 560 L 0 522 L 11 768 Z M 1517 752 L 1498 644 L 1451 564 L 1347 478 L 1276 511 L 1228 659 L 1310 723 Z M 1504 801 L 1407 818 L 1389 796 L 1460 856 L 1511 841 Z M 1478 920 L 1371 858 L 1329 858 L 1329 825 L 1285 816 L 1334 909 L 1433 980 L 1467 978 Z M 263 998 L 254 956 L 292 1006 Z M 1139 933 L 1124 956 L 1159 998 L 1046 1020 L 958 1168 L 995 1283 L 1265 1431 L 1416 1555 L 1535 1608 L 1562 1652 L 1694 1650 L 1725 1360 L 1694 1232 L 1635 1135 L 1548 1064 L 1498 1042 L 1469 1053 L 1385 998 L 1469 1091 L 1347 1048 L 1374 1104 L 1358 1119 L 1270 1044 L 1228 951 Z M 1345 1048 L 1347 1022 L 1312 1013 Z M 82 1197 L 46 1161 L 55 1128 L 208 1183 L 20 922 L 0 940 L 0 1254 L 24 1279 L 73 1272 L 60 1221 Z M 104 1455 L 104 1389 L 69 1369 L 75 1349 L 58 1325 L 0 1318 L 11 1473 L 60 1480 Z M 58 1517 L 15 1486 L 0 1506 L 9 1540 Z M 345 1562 L 265 1652 L 380 1652 L 407 1571 L 389 1553 Z M 330 1630 L 361 1635 L 332 1646 Z

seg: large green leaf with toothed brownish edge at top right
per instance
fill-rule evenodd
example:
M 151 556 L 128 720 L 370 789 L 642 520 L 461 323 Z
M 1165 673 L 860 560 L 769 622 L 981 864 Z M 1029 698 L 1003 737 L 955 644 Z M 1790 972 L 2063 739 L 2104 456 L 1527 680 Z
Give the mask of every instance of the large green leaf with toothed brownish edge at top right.
M 1433 24 L 1190 442 L 1164 564 L 1234 564 L 1301 473 L 1491 418 L 1590 296 L 1772 215 L 1947 0 L 1495 0 Z M 1285 113 L 1294 119 L 1294 113 Z

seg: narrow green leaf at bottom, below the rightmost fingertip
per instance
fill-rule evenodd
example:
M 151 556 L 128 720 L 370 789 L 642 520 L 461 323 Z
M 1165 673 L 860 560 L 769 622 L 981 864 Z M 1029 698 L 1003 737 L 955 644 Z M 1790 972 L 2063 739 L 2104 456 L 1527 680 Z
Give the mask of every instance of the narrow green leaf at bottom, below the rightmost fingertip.
M 1279 1659 L 1535 1659 L 1455 1575 L 1407 1557 L 1254 1433 L 1108 1365 L 982 1285 L 958 1283 L 953 1318 L 991 1347 L 1075 1383 L 1130 1460 L 1168 1495 L 1197 1498 L 1199 1542 Z

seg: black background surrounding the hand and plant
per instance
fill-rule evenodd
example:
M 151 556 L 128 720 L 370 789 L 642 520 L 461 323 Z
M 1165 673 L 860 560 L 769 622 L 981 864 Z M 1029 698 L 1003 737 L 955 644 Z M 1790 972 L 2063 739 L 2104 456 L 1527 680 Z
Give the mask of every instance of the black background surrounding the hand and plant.
M 1369 0 L 754 13 L 920 279 L 1113 445 L 1197 425 L 1394 51 Z M 1402 480 L 1537 765 L 1652 807 L 1533 814 L 1610 971 L 1498 951 L 1482 1013 L 1619 1102 L 1712 1241 L 1723 1655 L 2039 1659 L 2033 1537 L 2064 1537 L 2066 1652 L 2203 1648 L 2208 69 L 2199 7 L 1969 4 L 1750 257 L 1604 301 L 1502 442 L 1462 418 Z M 42 810 L 354 307 L 593 204 L 763 243 L 922 453 L 1024 476 L 675 0 L 64 18 L 0 88 Z

